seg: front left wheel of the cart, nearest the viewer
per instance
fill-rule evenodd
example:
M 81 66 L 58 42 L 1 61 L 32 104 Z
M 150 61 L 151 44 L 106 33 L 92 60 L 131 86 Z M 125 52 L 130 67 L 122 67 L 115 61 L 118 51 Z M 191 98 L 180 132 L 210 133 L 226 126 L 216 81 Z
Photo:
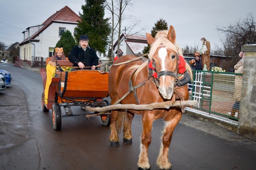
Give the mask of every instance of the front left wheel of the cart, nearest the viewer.
M 61 106 L 58 103 L 53 104 L 52 113 L 53 113 L 54 130 L 61 130 L 62 115 L 61 115 Z

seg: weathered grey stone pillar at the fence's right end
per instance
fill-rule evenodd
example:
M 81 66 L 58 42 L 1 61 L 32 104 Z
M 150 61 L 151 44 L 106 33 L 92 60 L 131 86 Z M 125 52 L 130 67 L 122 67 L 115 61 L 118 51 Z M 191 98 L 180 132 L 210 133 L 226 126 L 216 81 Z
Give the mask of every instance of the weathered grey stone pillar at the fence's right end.
M 243 45 L 245 53 L 238 133 L 256 141 L 256 44 Z

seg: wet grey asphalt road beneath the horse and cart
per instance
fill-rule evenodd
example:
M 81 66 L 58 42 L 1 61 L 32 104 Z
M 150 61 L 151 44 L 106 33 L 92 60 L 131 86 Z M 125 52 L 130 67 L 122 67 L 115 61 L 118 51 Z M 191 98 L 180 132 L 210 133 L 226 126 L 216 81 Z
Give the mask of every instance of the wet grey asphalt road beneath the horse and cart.
M 132 123 L 133 144 L 116 148 L 110 146 L 110 127 L 100 117 L 64 117 L 62 130 L 55 131 L 51 110 L 41 108 L 40 74 L 11 63 L 0 63 L 0 69 L 12 74 L 12 84 L 0 91 L 0 169 L 138 169 L 141 116 L 135 115 Z M 72 111 L 84 112 L 80 107 Z M 162 120 L 153 124 L 152 170 L 157 169 L 163 125 Z M 169 159 L 172 170 L 254 170 L 256 142 L 184 114 L 174 130 Z

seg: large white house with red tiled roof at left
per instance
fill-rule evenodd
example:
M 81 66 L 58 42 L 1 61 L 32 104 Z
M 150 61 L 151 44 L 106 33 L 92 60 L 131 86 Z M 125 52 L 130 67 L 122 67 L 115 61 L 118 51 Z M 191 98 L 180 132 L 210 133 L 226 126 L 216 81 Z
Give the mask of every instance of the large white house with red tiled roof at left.
M 35 57 L 46 58 L 53 56 L 56 43 L 61 35 L 69 30 L 74 36 L 74 28 L 81 18 L 65 6 L 55 14 L 50 16 L 44 23 L 31 26 L 23 31 L 24 40 L 20 45 L 20 59 L 31 64 Z

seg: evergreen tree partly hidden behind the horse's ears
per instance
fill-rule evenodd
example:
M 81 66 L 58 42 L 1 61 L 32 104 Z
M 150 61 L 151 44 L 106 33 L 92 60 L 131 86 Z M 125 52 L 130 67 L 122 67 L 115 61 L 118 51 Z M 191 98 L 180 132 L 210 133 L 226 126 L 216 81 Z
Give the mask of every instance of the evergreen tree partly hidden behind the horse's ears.
M 164 19 L 159 19 L 156 23 L 155 26 L 152 28 L 151 30 L 151 35 L 152 37 L 155 38 L 156 34 L 158 31 L 162 31 L 162 30 L 167 30 L 168 29 L 168 24 Z M 149 53 L 149 49 L 150 49 L 150 45 L 148 44 L 148 46 L 146 46 L 143 49 L 143 54 Z

